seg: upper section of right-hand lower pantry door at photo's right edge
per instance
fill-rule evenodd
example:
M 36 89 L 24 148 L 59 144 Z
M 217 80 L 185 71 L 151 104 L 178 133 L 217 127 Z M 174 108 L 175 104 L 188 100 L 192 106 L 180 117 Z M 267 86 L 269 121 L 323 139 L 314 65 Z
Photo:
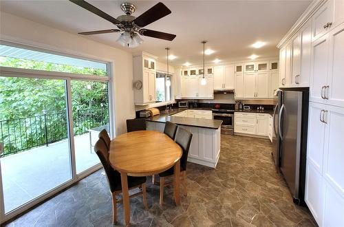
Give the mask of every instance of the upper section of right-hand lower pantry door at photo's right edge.
M 323 177 L 344 197 L 344 108 L 327 105 L 325 122 Z

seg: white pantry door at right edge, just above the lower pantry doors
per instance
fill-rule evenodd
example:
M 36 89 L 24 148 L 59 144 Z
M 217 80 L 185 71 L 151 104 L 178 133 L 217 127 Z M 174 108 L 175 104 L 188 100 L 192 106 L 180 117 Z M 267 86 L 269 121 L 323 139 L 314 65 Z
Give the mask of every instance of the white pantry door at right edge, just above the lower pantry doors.
M 329 40 L 327 103 L 344 107 L 344 24 L 330 32 Z

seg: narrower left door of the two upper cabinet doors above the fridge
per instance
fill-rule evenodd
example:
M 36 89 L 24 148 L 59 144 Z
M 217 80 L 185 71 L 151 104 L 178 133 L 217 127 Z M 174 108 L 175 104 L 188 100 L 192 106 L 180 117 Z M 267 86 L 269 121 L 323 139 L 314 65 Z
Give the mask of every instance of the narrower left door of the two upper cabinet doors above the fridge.
M 301 39 L 300 34 L 292 39 L 292 74 L 290 77 L 291 87 L 299 87 L 299 79 L 301 74 Z

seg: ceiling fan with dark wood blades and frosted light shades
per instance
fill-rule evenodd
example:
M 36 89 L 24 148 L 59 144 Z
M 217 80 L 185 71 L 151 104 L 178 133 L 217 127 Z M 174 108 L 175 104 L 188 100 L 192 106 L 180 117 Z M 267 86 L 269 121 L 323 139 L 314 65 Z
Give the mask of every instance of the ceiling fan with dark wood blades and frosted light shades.
M 112 32 L 122 32 L 120 37 L 116 40 L 122 46 L 127 47 L 137 47 L 143 40 L 140 38 L 142 36 L 150 36 L 157 39 L 164 39 L 167 41 L 173 41 L 175 39 L 175 34 L 169 34 L 165 32 L 158 32 L 154 30 L 145 29 L 143 27 L 153 23 L 154 21 L 158 21 L 162 17 L 167 16 L 171 13 L 171 10 L 167 8 L 163 3 L 157 3 L 155 6 L 141 14 L 139 17 L 133 17 L 131 14 L 135 12 L 136 6 L 132 3 L 122 3 L 120 4 L 120 8 L 125 12 L 125 15 L 121 15 L 115 19 L 111 17 L 109 14 L 99 10 L 95 6 L 92 6 L 90 3 L 84 0 L 69 0 L 72 3 L 88 10 L 89 12 L 93 12 L 94 14 L 102 17 L 103 19 L 110 21 L 114 25 L 117 26 L 118 29 L 109 29 L 109 30 L 98 30 L 92 32 L 80 32 L 78 34 L 83 35 L 90 35 L 90 34 L 104 34 L 104 33 L 112 33 Z

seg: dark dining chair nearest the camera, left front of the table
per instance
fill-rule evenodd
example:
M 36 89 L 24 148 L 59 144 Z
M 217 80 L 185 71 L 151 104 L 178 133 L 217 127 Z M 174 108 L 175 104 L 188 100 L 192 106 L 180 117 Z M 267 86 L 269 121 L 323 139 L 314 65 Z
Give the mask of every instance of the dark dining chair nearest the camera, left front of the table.
M 107 146 L 103 140 L 98 140 L 94 145 L 94 151 L 96 151 L 100 162 L 102 162 L 105 173 L 107 175 L 107 182 L 109 183 L 110 192 L 112 195 L 112 222 L 116 223 L 117 217 L 117 204 L 122 203 L 123 199 L 117 199 L 116 195 L 122 193 L 122 184 L 120 181 L 120 173 L 114 170 L 109 164 L 109 153 Z M 136 197 L 138 195 L 143 196 L 144 208 L 148 210 L 146 199 L 146 180 L 147 177 L 131 177 L 128 176 L 128 188 L 140 188 L 138 193 L 130 195 L 129 197 Z

